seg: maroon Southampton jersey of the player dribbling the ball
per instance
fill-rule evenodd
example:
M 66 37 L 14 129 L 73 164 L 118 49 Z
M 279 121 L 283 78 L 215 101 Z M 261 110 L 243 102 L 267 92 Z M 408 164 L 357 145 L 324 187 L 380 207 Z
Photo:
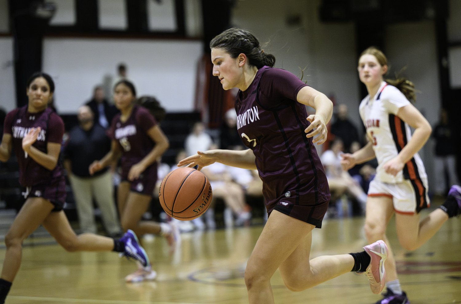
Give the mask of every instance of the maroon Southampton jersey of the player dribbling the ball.
M 330 200 L 323 166 L 304 132 L 306 107 L 296 101 L 304 86 L 290 72 L 264 66 L 236 98 L 237 129 L 256 156 L 268 212 L 280 200 L 312 206 Z

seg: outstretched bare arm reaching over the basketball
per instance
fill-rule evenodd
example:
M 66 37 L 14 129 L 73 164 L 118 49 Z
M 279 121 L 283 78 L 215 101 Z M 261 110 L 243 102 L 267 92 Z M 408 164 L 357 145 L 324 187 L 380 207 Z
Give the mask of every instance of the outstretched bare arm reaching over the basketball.
M 202 167 L 209 166 L 216 161 L 227 166 L 250 170 L 256 169 L 256 165 L 254 163 L 255 156 L 251 149 L 241 151 L 221 149 L 208 150 L 205 152 L 198 151 L 197 154 L 180 161 L 177 166 L 182 167 L 184 165 L 188 165 L 188 167 L 194 167 L 198 165 L 198 170 L 201 170 Z

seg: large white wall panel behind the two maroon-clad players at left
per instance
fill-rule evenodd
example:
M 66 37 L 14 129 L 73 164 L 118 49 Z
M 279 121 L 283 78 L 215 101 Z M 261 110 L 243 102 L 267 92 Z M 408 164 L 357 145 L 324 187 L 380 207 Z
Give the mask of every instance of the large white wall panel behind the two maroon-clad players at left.
M 75 113 L 93 88 L 115 77 L 116 66 L 128 66 L 138 95 L 156 96 L 167 111 L 192 111 L 198 41 L 45 38 L 43 71 L 56 82 L 59 113 Z

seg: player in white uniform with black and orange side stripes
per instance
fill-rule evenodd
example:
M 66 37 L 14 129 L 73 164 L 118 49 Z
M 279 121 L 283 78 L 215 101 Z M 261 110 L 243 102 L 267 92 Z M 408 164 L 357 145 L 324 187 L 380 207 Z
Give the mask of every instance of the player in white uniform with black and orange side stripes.
M 378 159 L 366 201 L 365 232 L 369 242 L 383 239 L 389 249 L 384 264 L 387 292 L 377 304 L 409 304 L 397 279 L 396 262 L 385 235 L 387 224 L 396 215 L 400 244 L 416 250 L 431 238 L 449 217 L 461 212 L 461 187 L 452 186 L 447 201 L 420 221 L 420 211 L 429 206 L 427 175 L 418 151 L 431 135 L 431 126 L 408 100 L 415 100 L 413 83 L 400 78 L 384 81 L 387 59 L 377 48 L 367 48 L 359 59 L 359 77 L 368 95 L 359 111 L 370 142 L 354 154 L 343 155 L 349 169 Z M 413 136 L 410 128 L 415 129 Z

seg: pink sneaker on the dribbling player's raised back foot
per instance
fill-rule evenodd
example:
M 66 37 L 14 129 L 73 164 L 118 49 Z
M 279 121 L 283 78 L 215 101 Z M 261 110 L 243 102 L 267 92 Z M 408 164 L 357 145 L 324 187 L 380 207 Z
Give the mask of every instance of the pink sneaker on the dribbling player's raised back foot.
M 366 253 L 371 257 L 370 265 L 364 272 L 358 274 L 365 274 L 370 281 L 370 288 L 374 294 L 383 291 L 386 284 L 386 270 L 384 269 L 384 261 L 387 258 L 387 246 L 384 241 L 379 240 L 373 244 L 363 247 Z

